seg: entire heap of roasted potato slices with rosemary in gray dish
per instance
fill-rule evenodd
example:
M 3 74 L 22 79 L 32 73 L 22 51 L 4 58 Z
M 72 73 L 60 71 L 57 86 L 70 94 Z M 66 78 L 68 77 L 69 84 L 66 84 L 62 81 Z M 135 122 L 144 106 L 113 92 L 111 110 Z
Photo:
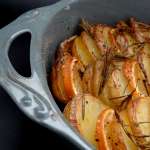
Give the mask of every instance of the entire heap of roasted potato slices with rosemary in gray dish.
M 80 25 L 50 76 L 66 119 L 98 150 L 150 149 L 150 25 Z

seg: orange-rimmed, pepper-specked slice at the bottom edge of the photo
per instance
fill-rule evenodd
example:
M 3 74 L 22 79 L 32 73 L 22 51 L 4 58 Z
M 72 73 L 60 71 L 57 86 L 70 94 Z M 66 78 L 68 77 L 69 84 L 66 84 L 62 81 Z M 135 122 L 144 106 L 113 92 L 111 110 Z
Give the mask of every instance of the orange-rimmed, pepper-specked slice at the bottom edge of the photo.
M 137 149 L 118 122 L 114 110 L 110 108 L 102 111 L 98 117 L 96 137 L 99 141 L 99 150 Z

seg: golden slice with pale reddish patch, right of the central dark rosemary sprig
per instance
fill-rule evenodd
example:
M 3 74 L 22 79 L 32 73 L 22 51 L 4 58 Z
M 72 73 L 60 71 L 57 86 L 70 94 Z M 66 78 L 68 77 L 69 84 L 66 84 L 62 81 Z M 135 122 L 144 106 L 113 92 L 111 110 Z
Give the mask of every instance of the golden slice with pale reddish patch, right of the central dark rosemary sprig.
M 132 91 L 128 89 L 128 80 L 123 72 L 123 61 L 114 61 L 110 66 L 109 76 L 99 97 L 107 105 L 121 107 L 123 100 Z

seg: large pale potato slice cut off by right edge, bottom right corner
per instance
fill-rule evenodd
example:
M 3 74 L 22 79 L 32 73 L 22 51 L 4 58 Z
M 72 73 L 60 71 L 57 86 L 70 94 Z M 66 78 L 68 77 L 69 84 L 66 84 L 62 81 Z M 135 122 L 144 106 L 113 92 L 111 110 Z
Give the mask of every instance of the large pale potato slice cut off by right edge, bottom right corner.
M 133 132 L 132 137 L 141 149 L 150 148 L 150 97 L 140 97 L 130 101 L 128 118 Z

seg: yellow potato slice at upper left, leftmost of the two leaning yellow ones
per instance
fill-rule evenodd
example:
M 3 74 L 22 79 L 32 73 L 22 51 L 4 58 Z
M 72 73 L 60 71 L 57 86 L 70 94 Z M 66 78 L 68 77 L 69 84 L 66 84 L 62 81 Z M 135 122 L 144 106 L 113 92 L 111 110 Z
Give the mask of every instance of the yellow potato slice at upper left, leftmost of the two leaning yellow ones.
M 80 36 L 77 37 L 74 41 L 72 55 L 77 57 L 85 66 L 94 62 L 94 58 L 83 43 Z

